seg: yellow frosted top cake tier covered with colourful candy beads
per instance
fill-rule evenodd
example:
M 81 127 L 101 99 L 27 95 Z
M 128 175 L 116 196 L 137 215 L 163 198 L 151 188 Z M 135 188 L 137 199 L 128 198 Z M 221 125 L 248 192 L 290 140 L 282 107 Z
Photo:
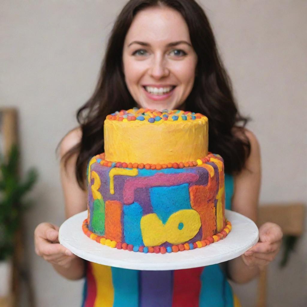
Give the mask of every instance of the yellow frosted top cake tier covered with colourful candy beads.
M 115 112 L 104 122 L 104 151 L 115 162 L 196 161 L 208 154 L 208 118 L 181 110 Z

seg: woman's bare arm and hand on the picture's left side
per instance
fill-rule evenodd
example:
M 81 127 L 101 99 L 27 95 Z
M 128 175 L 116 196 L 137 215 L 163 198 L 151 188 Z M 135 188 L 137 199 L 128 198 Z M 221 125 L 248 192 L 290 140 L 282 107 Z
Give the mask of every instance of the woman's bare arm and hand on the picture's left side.
M 60 144 L 60 157 L 81 139 L 80 128 L 69 132 Z M 70 157 L 64 168 L 60 163 L 60 177 L 65 200 L 66 218 L 82 212 L 87 208 L 87 193 L 83 191 L 75 176 L 77 154 Z M 59 227 L 51 223 L 39 224 L 34 232 L 35 251 L 37 255 L 52 264 L 54 269 L 68 279 L 80 279 L 85 274 L 85 262 L 73 255 L 71 251 L 59 244 Z

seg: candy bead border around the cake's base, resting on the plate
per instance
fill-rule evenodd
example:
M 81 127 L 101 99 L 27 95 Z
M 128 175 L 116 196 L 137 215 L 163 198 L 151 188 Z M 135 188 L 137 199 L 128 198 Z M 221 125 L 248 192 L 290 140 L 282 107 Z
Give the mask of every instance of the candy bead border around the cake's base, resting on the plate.
M 184 244 L 178 244 L 178 245 L 172 245 L 168 247 L 159 247 L 159 246 L 133 246 L 132 244 L 122 243 L 122 242 L 116 242 L 111 239 L 107 239 L 104 236 L 99 236 L 94 234 L 92 231 L 88 229 L 88 223 L 87 219 L 85 219 L 82 223 L 82 230 L 87 237 L 89 237 L 92 240 L 95 240 L 97 243 L 100 243 L 102 245 L 107 245 L 109 247 L 117 248 L 117 249 L 123 249 L 128 251 L 134 251 L 134 252 L 141 252 L 141 253 L 155 253 L 155 254 L 165 254 L 165 253 L 177 253 L 178 251 L 187 251 L 192 250 L 195 248 L 201 248 L 205 247 L 211 243 L 220 241 L 227 237 L 229 232 L 231 231 L 231 223 L 228 220 L 225 220 L 226 226 L 223 228 L 222 231 L 219 233 L 212 235 L 210 237 L 207 237 L 204 240 L 196 241 L 194 243 L 184 243 Z

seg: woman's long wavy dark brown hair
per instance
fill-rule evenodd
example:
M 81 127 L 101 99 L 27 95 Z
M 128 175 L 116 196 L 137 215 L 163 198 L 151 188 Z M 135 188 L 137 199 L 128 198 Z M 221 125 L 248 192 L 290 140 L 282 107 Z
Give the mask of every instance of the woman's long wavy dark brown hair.
M 177 10 L 188 25 L 198 62 L 194 85 L 185 101 L 185 109 L 208 117 L 209 151 L 219 153 L 224 159 L 225 172 L 232 174 L 244 168 L 250 154 L 250 142 L 243 130 L 248 119 L 241 116 L 236 107 L 231 81 L 220 60 L 204 10 L 194 0 L 130 0 L 120 12 L 111 31 L 95 91 L 77 111 L 77 120 L 82 130 L 81 141 L 62 157 L 66 165 L 73 154 L 78 155 L 76 178 L 83 189 L 89 158 L 104 150 L 104 119 L 115 111 L 137 105 L 128 91 L 122 70 L 123 44 L 134 16 L 141 10 L 155 6 Z

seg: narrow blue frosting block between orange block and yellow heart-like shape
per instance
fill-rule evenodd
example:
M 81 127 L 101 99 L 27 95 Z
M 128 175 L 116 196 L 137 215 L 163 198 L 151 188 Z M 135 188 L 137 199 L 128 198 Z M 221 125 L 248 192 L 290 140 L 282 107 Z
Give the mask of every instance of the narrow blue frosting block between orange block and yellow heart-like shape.
M 138 203 L 131 205 L 124 205 L 124 237 L 127 244 L 143 245 L 142 232 L 141 232 L 141 218 L 143 209 Z

